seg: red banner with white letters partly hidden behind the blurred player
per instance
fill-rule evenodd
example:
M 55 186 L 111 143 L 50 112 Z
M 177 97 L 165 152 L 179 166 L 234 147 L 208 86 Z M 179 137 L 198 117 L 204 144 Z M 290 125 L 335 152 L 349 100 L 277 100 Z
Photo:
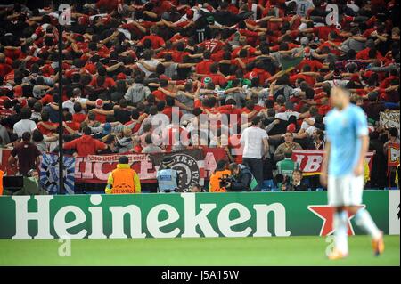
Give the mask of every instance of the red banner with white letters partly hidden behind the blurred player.
M 292 150 L 292 160 L 299 163 L 299 169 L 304 176 L 320 174 L 322 171 L 324 150 Z M 372 170 L 374 152 L 366 154 L 366 162 L 369 165 L 369 175 Z

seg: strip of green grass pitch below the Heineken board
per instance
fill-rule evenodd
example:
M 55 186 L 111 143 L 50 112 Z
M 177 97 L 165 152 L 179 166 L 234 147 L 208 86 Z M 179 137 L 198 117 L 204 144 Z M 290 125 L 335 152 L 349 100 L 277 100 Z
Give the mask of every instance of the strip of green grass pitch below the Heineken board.
M 321 237 L 72 239 L 65 257 L 57 239 L 1 239 L 0 265 L 400 265 L 399 236 L 385 244 L 374 257 L 369 237 L 350 237 L 348 258 L 329 261 Z

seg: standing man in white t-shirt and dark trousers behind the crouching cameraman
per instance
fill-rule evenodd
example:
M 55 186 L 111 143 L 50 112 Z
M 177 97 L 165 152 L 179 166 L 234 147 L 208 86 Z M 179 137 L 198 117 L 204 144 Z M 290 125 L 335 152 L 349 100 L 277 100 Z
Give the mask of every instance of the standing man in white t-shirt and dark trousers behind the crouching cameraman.
M 243 147 L 242 164 L 250 168 L 259 189 L 263 183 L 263 158 L 269 150 L 268 136 L 261 126 L 262 118 L 253 118 L 252 125 L 242 132 L 240 140 Z

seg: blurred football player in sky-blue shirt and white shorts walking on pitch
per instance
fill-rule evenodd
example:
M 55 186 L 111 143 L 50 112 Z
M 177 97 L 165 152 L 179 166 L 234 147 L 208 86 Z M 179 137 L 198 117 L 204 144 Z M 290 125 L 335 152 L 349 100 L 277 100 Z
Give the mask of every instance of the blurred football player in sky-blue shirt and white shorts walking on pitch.
M 348 256 L 348 212 L 355 214 L 356 224 L 372 236 L 373 252 L 384 250 L 383 234 L 371 215 L 359 206 L 364 190 L 364 158 L 369 146 L 364 111 L 349 102 L 349 93 L 340 87 L 331 89 L 334 109 L 327 115 L 327 142 L 323 157 L 323 186 L 328 184 L 328 200 L 335 207 L 333 218 L 334 251 L 330 259 Z

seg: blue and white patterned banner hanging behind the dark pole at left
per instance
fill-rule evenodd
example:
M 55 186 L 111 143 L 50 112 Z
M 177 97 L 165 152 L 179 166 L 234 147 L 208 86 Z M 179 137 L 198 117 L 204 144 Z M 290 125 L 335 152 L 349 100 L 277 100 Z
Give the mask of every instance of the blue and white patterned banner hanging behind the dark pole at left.
M 74 194 L 74 170 L 75 158 L 63 157 L 65 172 L 63 174 L 64 191 L 68 194 Z M 59 192 L 60 172 L 59 156 L 53 154 L 43 154 L 40 164 L 40 184 L 51 194 Z

